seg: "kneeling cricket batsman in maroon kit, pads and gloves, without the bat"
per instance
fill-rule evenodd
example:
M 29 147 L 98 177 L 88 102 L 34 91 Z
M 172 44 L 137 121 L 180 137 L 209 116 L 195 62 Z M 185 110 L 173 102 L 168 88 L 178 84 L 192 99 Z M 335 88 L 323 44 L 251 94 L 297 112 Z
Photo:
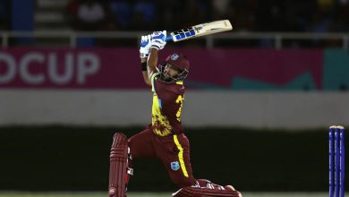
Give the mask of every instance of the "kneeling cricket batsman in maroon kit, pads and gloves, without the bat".
M 125 197 L 133 173 L 132 158 L 159 158 L 180 189 L 174 197 L 242 197 L 231 185 L 221 186 L 192 176 L 190 143 L 181 122 L 183 80 L 190 64 L 182 54 L 167 56 L 157 65 L 157 54 L 166 46 L 166 30 L 141 37 L 140 62 L 145 83 L 153 92 L 151 124 L 130 139 L 115 133 L 110 154 L 109 197 Z

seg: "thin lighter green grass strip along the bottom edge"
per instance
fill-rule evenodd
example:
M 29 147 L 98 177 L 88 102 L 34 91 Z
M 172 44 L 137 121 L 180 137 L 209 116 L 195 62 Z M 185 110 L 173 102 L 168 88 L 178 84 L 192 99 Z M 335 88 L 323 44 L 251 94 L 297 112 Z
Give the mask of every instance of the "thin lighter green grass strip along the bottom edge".
M 170 197 L 171 193 L 129 193 L 128 197 Z M 243 193 L 243 197 L 327 197 L 328 193 Z M 107 197 L 106 193 L 0 193 L 0 197 Z

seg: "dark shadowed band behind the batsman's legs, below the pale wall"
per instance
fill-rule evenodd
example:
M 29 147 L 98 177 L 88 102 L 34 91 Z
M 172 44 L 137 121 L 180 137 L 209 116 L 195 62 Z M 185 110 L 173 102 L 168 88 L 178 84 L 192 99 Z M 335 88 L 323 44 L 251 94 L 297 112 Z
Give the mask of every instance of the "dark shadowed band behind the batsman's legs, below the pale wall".
M 2 127 L 0 190 L 105 191 L 115 131 L 142 127 Z M 194 176 L 244 191 L 327 191 L 326 128 L 285 132 L 186 129 Z M 133 160 L 132 191 L 174 191 L 157 159 Z M 347 183 L 345 187 L 347 187 Z

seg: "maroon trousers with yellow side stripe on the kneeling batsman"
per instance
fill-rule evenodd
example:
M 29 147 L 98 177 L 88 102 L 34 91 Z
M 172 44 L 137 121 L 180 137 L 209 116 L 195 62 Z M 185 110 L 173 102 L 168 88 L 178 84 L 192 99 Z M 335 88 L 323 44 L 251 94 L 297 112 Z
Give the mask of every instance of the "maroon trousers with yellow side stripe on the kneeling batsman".
M 132 158 L 159 158 L 174 184 L 179 187 L 196 183 L 192 176 L 190 142 L 182 134 L 158 136 L 148 127 L 128 141 Z

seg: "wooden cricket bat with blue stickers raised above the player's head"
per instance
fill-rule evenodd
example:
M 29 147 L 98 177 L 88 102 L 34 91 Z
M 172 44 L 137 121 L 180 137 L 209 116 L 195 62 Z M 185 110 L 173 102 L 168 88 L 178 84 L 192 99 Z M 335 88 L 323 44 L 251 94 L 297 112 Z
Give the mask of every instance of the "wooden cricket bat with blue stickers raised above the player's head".
M 166 41 L 182 41 L 184 39 L 193 39 L 209 34 L 219 33 L 226 30 L 233 30 L 233 26 L 229 20 L 210 21 L 198 25 L 194 25 L 188 29 L 176 30 L 166 37 Z

